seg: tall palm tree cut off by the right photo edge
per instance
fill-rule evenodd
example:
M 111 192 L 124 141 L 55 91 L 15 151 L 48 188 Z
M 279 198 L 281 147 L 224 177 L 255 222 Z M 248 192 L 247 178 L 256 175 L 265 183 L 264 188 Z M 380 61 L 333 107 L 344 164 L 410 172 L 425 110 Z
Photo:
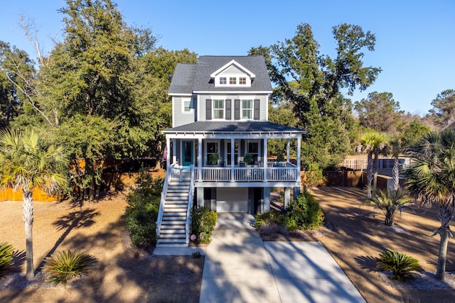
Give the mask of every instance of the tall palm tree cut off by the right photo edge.
M 407 150 L 411 163 L 405 170 L 407 191 L 425 206 L 437 204 L 441 223 L 437 278 L 444 280 L 450 221 L 455 216 L 455 132 L 428 133 Z

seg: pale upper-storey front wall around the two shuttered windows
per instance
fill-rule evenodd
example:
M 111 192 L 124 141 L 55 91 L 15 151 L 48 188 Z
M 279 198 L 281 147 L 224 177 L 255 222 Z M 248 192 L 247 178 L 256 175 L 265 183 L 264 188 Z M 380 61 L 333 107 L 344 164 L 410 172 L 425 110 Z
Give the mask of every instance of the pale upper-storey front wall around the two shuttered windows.
M 215 92 L 213 94 L 199 94 L 198 95 L 198 101 L 196 102 L 198 104 L 198 121 L 207 121 L 207 117 L 205 116 L 205 100 L 206 99 L 230 99 L 232 104 L 231 104 L 231 119 L 229 121 L 242 121 L 242 120 L 235 120 L 235 114 L 234 114 L 234 100 L 235 99 L 259 99 L 259 121 L 267 121 L 267 114 L 268 114 L 268 98 L 266 94 L 216 94 Z M 215 120 L 219 121 L 219 120 Z

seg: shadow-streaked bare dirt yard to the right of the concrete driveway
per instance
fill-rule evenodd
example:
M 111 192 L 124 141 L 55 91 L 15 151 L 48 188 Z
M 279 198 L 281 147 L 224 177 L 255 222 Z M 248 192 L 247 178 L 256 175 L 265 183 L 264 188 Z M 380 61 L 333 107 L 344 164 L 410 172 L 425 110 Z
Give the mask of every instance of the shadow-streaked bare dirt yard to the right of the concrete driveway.
M 310 189 L 326 213 L 331 232 L 317 237 L 367 302 L 454 302 L 455 253 L 447 251 L 446 282 L 434 279 L 440 226 L 437 208 L 414 207 L 395 217 L 395 226 L 383 224 L 384 216 L 363 204 L 357 189 L 316 187 Z M 384 250 L 406 253 L 419 260 L 424 272 L 416 280 L 395 282 L 390 273 L 379 272 L 376 258 Z

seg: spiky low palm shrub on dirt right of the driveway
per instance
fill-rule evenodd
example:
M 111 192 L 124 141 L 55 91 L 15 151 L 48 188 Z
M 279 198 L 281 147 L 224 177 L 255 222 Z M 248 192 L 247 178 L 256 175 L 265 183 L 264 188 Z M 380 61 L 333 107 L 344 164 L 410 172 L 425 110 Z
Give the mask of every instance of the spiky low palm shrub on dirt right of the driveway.
M 404 253 L 387 250 L 379 254 L 379 260 L 376 263 L 377 268 L 392 272 L 392 279 L 406 280 L 417 275 L 422 270 L 419 260 L 412 258 Z

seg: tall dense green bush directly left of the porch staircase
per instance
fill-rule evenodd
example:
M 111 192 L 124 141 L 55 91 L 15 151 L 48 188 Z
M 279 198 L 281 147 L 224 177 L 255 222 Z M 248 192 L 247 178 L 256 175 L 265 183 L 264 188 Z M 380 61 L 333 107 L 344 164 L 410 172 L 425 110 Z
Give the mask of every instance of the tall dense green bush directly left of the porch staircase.
M 142 172 L 137 177 L 136 184 L 136 189 L 127 197 L 125 215 L 129 238 L 134 246 L 139 246 L 156 241 L 156 219 L 163 180 L 154 180 L 148 172 Z

